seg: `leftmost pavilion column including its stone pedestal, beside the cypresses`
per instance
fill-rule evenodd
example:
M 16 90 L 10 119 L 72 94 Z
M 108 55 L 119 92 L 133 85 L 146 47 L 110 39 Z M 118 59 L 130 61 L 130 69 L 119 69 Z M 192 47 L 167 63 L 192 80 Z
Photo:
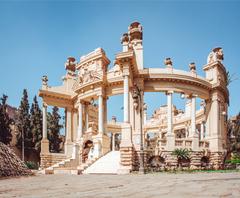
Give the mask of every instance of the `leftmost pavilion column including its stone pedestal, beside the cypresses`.
M 43 116 L 43 132 L 41 140 L 41 154 L 49 153 L 49 141 L 47 138 L 47 104 L 43 102 L 42 107 L 42 116 Z

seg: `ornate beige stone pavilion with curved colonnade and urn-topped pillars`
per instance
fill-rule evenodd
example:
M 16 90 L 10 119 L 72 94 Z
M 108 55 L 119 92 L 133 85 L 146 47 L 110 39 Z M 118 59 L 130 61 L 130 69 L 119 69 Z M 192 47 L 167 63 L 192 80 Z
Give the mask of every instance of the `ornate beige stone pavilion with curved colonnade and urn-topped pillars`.
M 189 64 L 189 71 L 174 69 L 171 58 L 165 59 L 163 68 L 145 68 L 142 34 L 140 23 L 129 26 L 121 38 L 122 52 L 116 54 L 111 68 L 104 50 L 98 48 L 79 62 L 67 59 L 61 86 L 51 87 L 43 77 L 39 96 L 43 99 L 41 167 L 45 173 L 89 173 L 91 167 L 97 169 L 98 162 L 105 169 L 115 164 L 115 173 L 143 171 L 154 156 L 172 168 L 176 166 L 171 155 L 175 148 L 191 149 L 191 168 L 201 168 L 203 158 L 208 159 L 205 164 L 221 167 L 229 98 L 222 49 L 210 52 L 203 66 L 205 77 L 197 74 L 194 63 Z M 163 92 L 167 98 L 167 104 L 150 119 L 145 92 Z M 119 94 L 123 94 L 124 121 L 108 121 L 107 100 Z M 185 111 L 173 105 L 173 94 L 186 100 Z M 197 98 L 202 101 L 200 109 L 196 109 Z M 48 106 L 65 108 L 64 153 L 49 151 Z M 118 157 L 104 161 L 110 154 Z

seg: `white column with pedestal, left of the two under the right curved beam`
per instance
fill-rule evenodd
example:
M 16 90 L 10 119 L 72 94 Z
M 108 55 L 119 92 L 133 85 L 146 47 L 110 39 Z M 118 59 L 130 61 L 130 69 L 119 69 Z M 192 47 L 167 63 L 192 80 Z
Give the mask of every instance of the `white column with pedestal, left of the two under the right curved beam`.
M 175 138 L 173 133 L 172 94 L 173 94 L 173 91 L 166 92 L 167 115 L 168 115 L 168 122 L 167 122 L 167 150 L 168 151 L 174 150 L 174 146 L 175 146 Z

